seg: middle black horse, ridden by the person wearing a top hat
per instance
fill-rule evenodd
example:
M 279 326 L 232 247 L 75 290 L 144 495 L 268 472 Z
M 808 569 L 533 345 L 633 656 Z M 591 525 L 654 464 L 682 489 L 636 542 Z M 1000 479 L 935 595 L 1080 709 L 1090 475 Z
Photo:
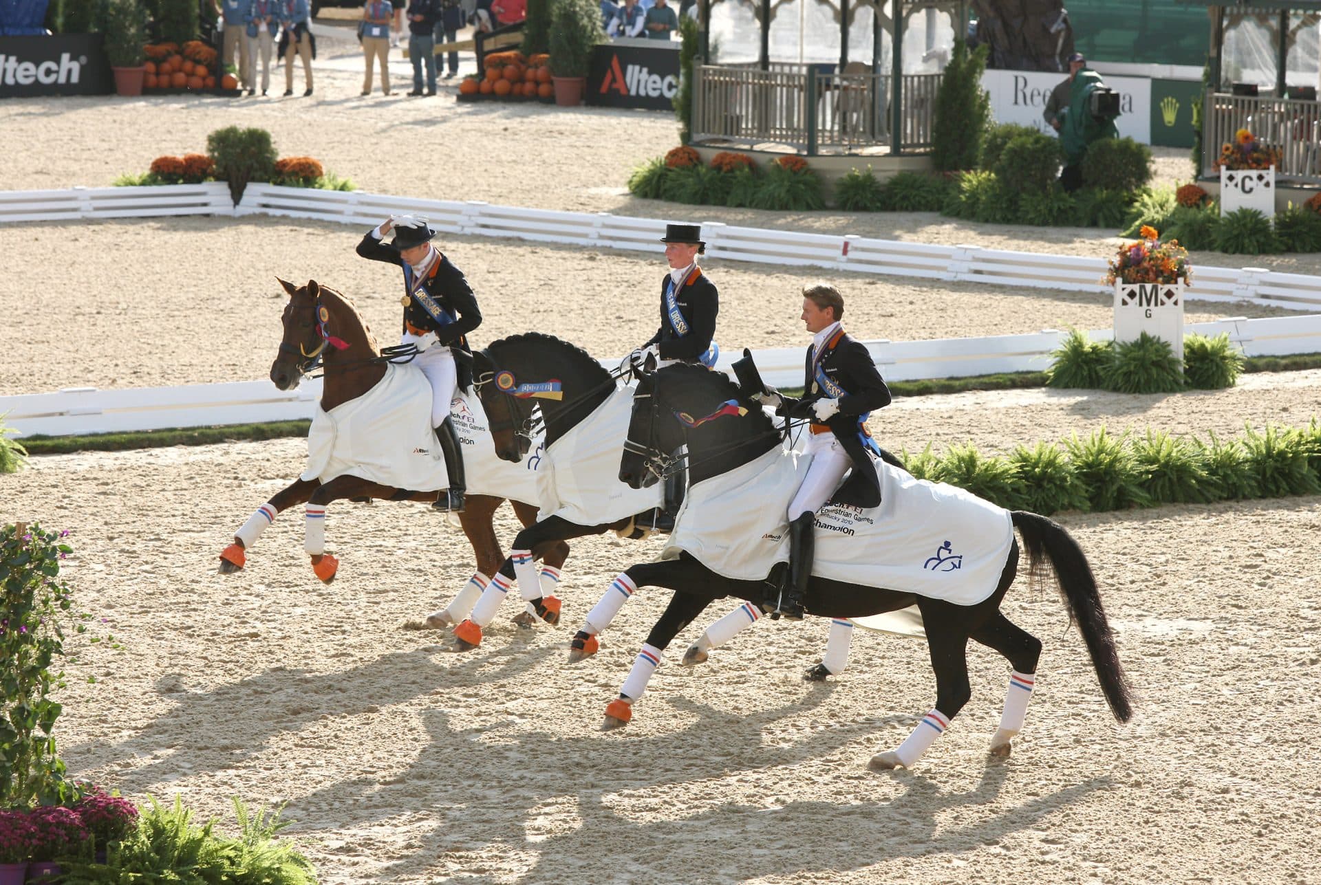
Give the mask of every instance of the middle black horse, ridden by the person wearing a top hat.
M 531 433 L 538 420 L 546 428 L 546 452 L 553 456 L 555 444 L 618 391 L 618 378 L 585 350 L 536 332 L 493 341 L 486 349 L 473 354 L 473 369 L 474 386 L 490 421 L 495 454 L 506 461 L 522 460 L 527 446 L 520 441 Z M 534 407 L 539 409 L 539 416 L 534 415 Z M 621 437 L 621 448 L 622 444 Z M 602 487 L 618 483 L 613 476 L 613 462 L 610 472 L 601 474 L 598 479 Z M 547 623 L 559 623 L 560 600 L 539 596 L 540 585 L 534 580 L 535 571 L 528 551 L 542 549 L 547 543 L 600 535 L 610 530 L 626 538 L 645 538 L 649 531 L 642 523 L 643 515 L 630 514 L 596 524 L 581 524 L 551 515 L 519 531 L 510 556 L 491 579 L 472 617 L 454 627 L 452 650 L 470 651 L 481 643 L 481 627 L 494 617 L 514 580 L 518 580 L 523 598 L 538 617 Z M 534 597 L 532 593 L 538 596 Z

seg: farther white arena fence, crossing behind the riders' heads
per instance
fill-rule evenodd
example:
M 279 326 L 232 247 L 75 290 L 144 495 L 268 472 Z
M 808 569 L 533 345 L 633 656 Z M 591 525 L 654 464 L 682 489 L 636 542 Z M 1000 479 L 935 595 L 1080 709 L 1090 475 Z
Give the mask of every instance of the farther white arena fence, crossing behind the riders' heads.
M 281 215 L 369 226 L 391 214 L 425 214 L 448 234 L 543 243 L 662 250 L 666 222 L 608 213 L 569 213 L 480 201 L 413 199 L 361 190 L 317 190 L 250 184 L 238 206 L 223 182 L 156 188 L 73 188 L 0 192 L 0 223 L 159 215 Z M 913 276 L 1016 288 L 1106 293 L 1106 260 L 979 246 L 933 246 L 855 234 L 806 234 L 703 222 L 712 258 L 793 264 L 855 273 Z M 1186 299 L 1251 301 L 1304 312 L 1321 309 L 1321 277 L 1266 268 L 1198 267 Z

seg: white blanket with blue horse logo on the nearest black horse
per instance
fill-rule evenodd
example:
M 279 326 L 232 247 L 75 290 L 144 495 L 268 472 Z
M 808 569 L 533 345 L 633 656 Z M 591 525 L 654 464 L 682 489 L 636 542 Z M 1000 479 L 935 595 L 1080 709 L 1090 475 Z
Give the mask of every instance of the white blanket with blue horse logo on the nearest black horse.
M 738 580 L 789 560 L 786 509 L 810 458 L 775 448 L 688 490 L 660 559 L 687 552 Z M 976 605 L 1000 584 L 1013 543 L 1008 510 L 943 482 L 873 461 L 881 506 L 816 513 L 812 575 L 861 586 Z

